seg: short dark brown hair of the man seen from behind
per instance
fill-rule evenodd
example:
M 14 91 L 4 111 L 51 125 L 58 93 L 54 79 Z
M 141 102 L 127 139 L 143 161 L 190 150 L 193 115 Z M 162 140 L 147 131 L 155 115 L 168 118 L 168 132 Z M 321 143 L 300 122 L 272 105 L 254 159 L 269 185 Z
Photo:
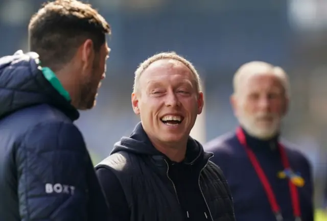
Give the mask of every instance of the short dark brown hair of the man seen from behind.
M 91 5 L 77 0 L 46 3 L 29 23 L 29 50 L 40 56 L 42 66 L 54 71 L 74 57 L 77 48 L 91 39 L 98 52 L 111 34 L 109 23 Z

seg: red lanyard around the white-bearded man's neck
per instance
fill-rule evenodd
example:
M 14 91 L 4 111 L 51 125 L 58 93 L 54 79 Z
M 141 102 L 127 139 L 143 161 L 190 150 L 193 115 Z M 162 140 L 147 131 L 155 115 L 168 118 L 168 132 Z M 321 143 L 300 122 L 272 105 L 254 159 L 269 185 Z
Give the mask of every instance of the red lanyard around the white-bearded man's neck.
M 276 219 L 278 221 L 282 221 L 283 216 L 281 213 L 281 208 L 279 207 L 279 205 L 276 201 L 275 194 L 272 191 L 270 183 L 269 183 L 269 181 L 265 175 L 265 172 L 263 171 L 258 159 L 256 159 L 255 154 L 247 145 L 244 132 L 242 131 L 241 128 L 238 128 L 236 131 L 236 134 L 237 134 L 238 140 L 244 146 L 244 149 L 249 157 L 249 160 L 251 161 L 251 163 L 254 167 L 254 170 L 255 170 L 256 174 L 258 175 L 258 177 L 265 189 L 265 192 L 267 194 L 267 197 L 268 197 L 268 200 L 269 200 L 269 203 L 271 206 L 271 210 L 274 212 Z M 281 143 L 278 143 L 278 149 L 279 149 L 279 153 L 281 154 L 282 163 L 283 163 L 284 168 L 285 169 L 290 168 L 290 163 L 286 156 L 285 148 Z M 300 203 L 299 203 L 299 198 L 298 198 L 297 187 L 292 183 L 291 180 L 289 181 L 289 188 L 290 188 L 291 199 L 292 199 L 293 214 L 294 214 L 295 220 L 298 221 L 298 220 L 301 220 L 301 218 L 300 218 L 300 216 L 301 216 Z

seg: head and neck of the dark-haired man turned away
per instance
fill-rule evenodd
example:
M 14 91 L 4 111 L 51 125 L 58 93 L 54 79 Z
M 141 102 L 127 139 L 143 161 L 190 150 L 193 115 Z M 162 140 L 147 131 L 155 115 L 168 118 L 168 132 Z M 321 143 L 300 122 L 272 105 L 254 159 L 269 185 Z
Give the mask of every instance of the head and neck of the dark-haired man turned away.
M 110 27 L 104 18 L 78 1 L 47 4 L 30 21 L 30 51 L 40 56 L 42 66 L 56 73 L 69 95 L 75 96 L 72 105 L 78 109 L 94 106 L 110 51 L 107 33 L 110 34 Z M 80 73 L 79 68 L 87 69 L 87 75 Z

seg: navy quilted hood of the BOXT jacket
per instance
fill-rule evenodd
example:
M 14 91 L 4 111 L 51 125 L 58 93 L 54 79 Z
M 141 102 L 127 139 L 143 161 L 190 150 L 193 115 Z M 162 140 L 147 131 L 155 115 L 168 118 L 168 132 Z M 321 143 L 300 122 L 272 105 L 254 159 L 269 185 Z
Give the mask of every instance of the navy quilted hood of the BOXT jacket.
M 79 112 L 46 80 L 36 53 L 16 52 L 0 58 L 0 119 L 17 110 L 49 104 L 72 120 Z

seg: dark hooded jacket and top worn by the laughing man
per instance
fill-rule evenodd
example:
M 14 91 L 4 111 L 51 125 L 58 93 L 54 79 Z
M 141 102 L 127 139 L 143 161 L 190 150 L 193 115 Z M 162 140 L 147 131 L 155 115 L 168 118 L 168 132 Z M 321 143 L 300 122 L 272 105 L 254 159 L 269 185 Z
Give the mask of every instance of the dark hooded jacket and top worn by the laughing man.
M 183 162 L 158 152 L 139 123 L 99 163 L 97 174 L 111 218 L 120 221 L 235 220 L 222 171 L 200 143 L 189 138 Z

